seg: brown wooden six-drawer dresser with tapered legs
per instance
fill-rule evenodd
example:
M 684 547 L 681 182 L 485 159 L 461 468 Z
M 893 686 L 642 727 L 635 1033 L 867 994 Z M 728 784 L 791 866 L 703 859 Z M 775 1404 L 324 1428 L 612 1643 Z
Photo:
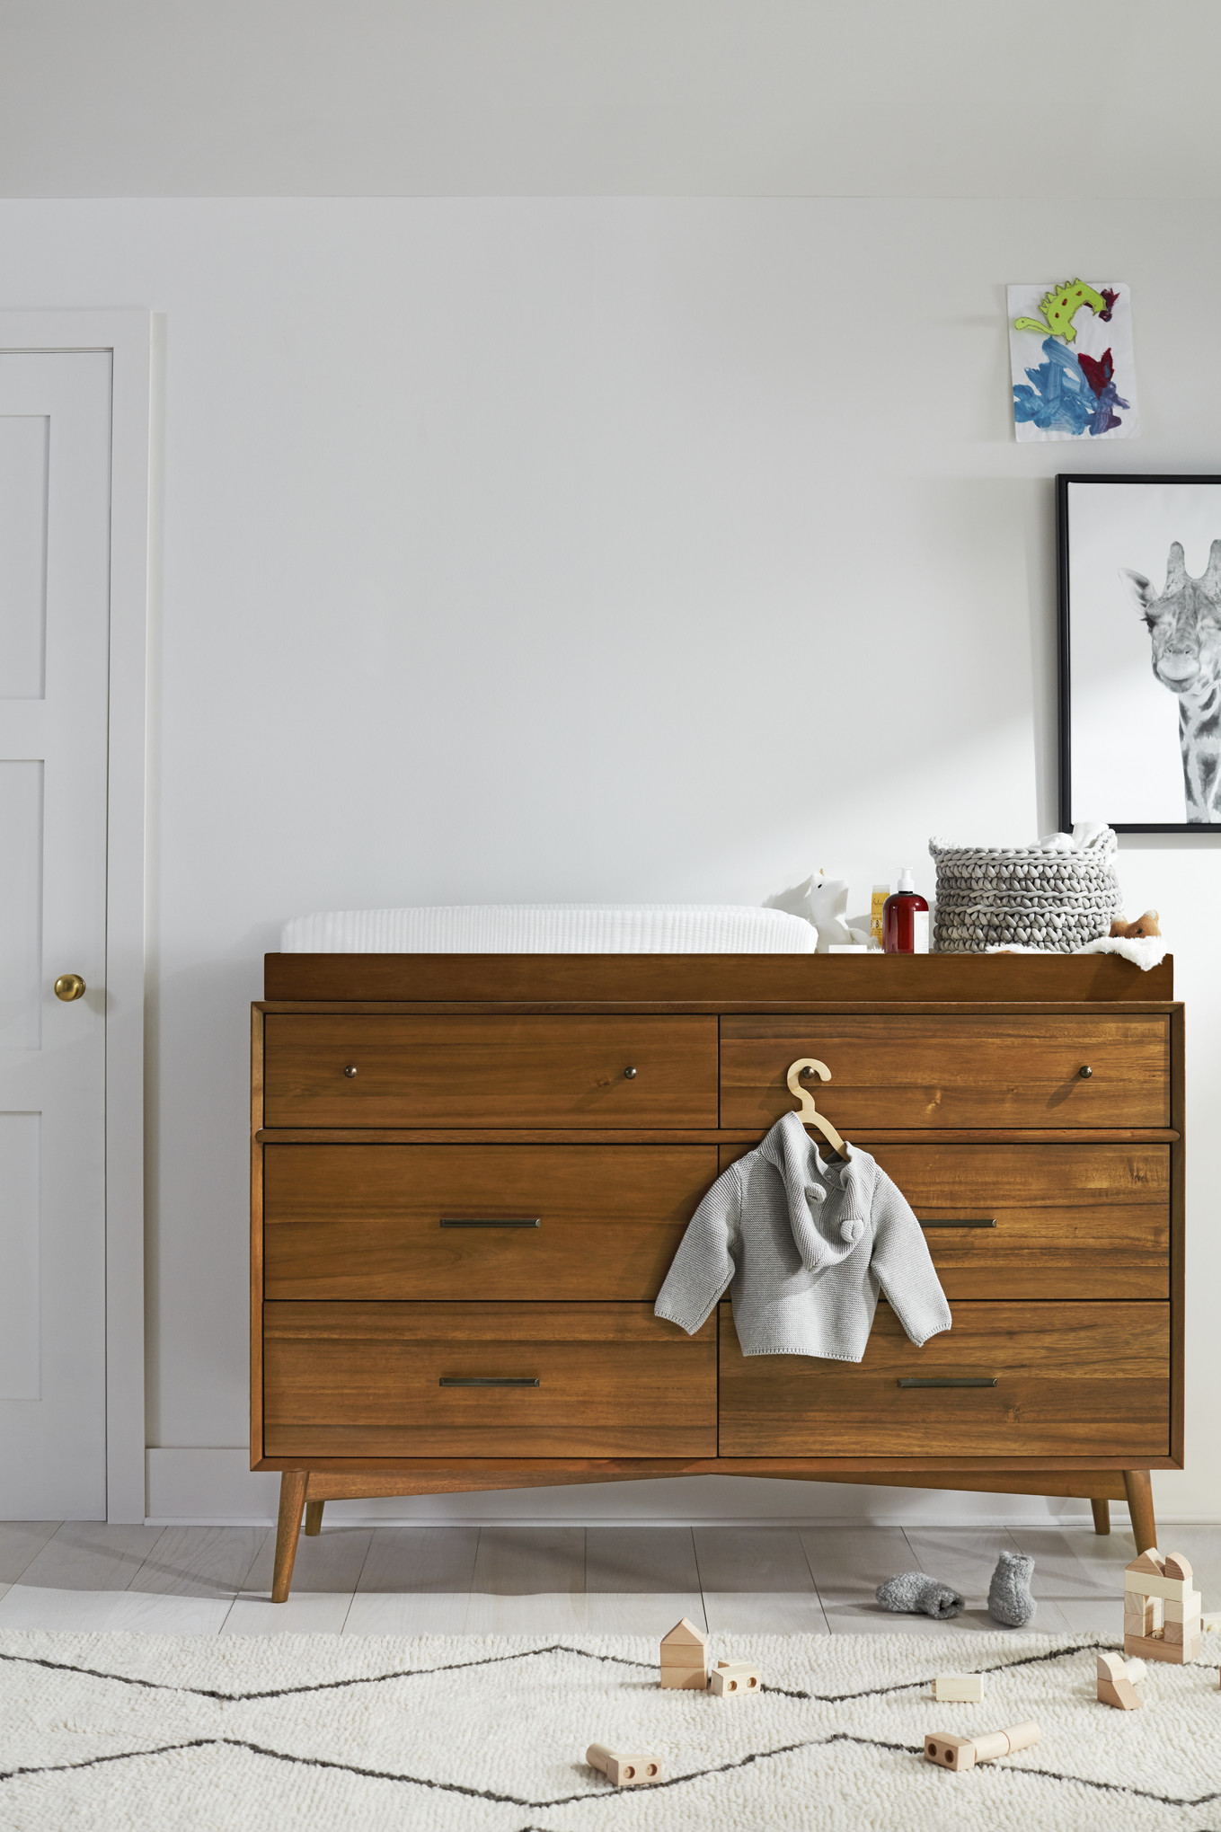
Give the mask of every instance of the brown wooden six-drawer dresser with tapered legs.
M 251 1456 L 275 1598 L 337 1497 L 804 1477 L 1126 1497 L 1183 1467 L 1183 1008 L 1117 956 L 267 954 Z M 954 1312 L 743 1358 L 654 1297 L 793 1107 L 908 1196 Z

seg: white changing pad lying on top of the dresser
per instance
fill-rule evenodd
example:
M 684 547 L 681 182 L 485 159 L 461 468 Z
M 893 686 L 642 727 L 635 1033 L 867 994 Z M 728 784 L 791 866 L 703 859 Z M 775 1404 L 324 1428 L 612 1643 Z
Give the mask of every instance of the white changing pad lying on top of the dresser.
M 454 903 L 326 911 L 284 923 L 284 954 L 813 954 L 802 916 L 751 903 Z

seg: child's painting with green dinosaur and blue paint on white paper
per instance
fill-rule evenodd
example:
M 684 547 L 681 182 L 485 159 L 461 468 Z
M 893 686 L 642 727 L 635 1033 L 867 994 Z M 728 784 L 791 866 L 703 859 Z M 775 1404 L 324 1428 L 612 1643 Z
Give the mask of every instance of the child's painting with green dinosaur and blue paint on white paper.
M 1020 440 L 1139 432 L 1131 289 L 1122 280 L 1010 286 L 1009 366 Z

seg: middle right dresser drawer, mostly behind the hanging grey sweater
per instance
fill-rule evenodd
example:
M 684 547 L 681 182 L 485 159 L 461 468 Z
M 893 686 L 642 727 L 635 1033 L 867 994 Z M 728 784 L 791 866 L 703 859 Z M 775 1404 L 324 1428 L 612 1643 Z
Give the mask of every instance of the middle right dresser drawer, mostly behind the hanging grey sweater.
M 725 1169 L 749 1145 L 721 1145 Z M 870 1145 L 946 1297 L 1170 1297 L 1168 1145 Z

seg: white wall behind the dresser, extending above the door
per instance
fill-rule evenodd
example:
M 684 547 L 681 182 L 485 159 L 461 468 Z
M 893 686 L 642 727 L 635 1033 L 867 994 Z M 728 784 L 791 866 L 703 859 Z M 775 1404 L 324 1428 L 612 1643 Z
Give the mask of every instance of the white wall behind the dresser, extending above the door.
M 167 313 L 154 1511 L 265 1506 L 240 1451 L 245 1035 L 280 920 L 760 901 L 820 865 L 862 901 L 908 861 L 930 887 L 930 834 L 1045 832 L 1049 478 L 1221 469 L 1214 231 L 1205 205 L 1051 194 L 0 203 L 2 306 Z M 1003 286 L 1076 271 L 1133 286 L 1146 436 L 1018 447 Z M 1164 1511 L 1221 1519 L 1217 854 L 1126 841 L 1122 876 L 1190 1006 L 1188 1469 L 1155 1480 Z M 686 1497 L 588 1506 L 901 1506 Z

